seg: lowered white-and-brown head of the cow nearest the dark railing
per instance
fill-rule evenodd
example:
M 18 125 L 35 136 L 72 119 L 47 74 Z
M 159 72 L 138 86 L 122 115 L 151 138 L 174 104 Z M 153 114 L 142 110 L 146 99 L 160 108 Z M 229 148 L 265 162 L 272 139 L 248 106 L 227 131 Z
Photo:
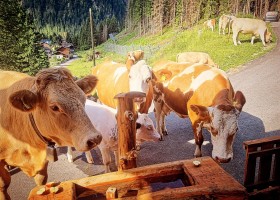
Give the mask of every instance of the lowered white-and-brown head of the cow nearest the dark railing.
M 229 162 L 233 158 L 232 144 L 238 130 L 238 117 L 245 102 L 242 92 L 237 91 L 233 105 L 190 106 L 198 115 L 202 127 L 211 133 L 212 157 L 218 162 Z

